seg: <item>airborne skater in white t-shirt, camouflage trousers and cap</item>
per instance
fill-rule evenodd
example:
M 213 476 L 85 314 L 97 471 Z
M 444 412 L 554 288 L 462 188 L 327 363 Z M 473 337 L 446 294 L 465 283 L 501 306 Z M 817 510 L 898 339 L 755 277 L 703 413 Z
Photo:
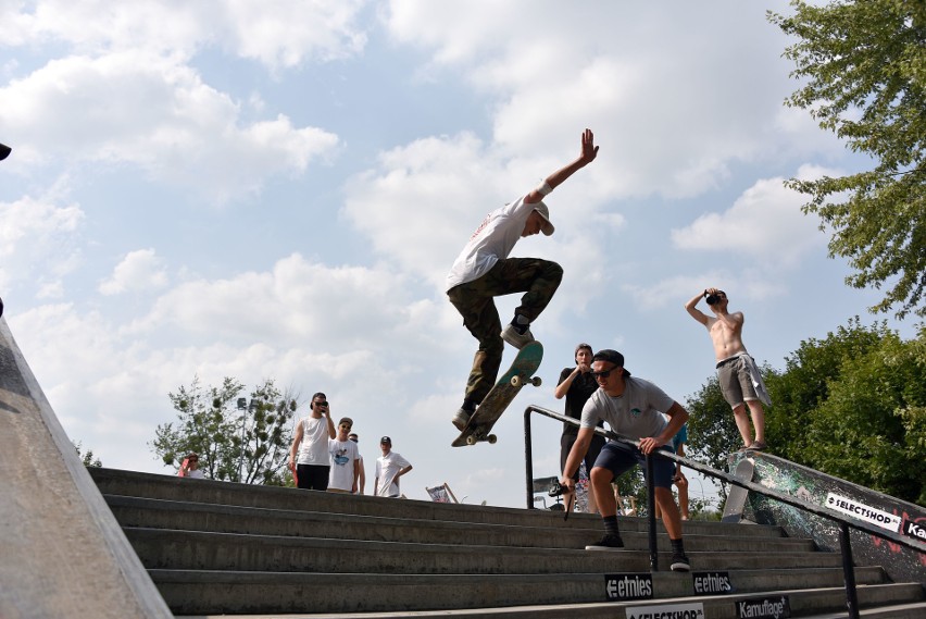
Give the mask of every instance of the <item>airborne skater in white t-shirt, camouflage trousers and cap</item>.
M 476 407 L 492 388 L 501 366 L 504 343 L 523 348 L 534 342 L 530 323 L 543 311 L 563 278 L 563 269 L 539 258 L 509 258 L 517 240 L 539 232 L 550 236 L 553 224 L 543 203 L 555 187 L 598 156 L 595 136 L 585 129 L 581 154 L 550 174 L 543 183 L 515 201 L 489 213 L 450 269 L 447 296 L 463 317 L 463 324 L 479 342 L 466 381 L 463 405 L 453 424 L 463 430 Z M 495 297 L 524 293 L 511 323 L 502 330 Z

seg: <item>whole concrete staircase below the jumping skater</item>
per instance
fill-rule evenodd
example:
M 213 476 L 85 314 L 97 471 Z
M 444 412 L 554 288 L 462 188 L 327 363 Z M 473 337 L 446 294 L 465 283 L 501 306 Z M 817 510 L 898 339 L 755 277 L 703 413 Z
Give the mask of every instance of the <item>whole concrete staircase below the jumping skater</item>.
M 622 519 L 625 549 L 588 552 L 602 532 L 588 515 L 90 472 L 176 615 L 623 618 L 700 605 L 677 617 L 736 618 L 743 601 L 786 598 L 791 617 L 847 617 L 841 557 L 777 527 L 686 522 L 694 573 L 650 574 L 642 519 Z M 667 570 L 661 525 L 659 544 Z M 730 591 L 697 594 L 698 572 Z M 651 575 L 652 598 L 609 602 L 608 575 L 625 574 Z M 921 583 L 879 567 L 855 578 L 863 617 L 926 617 Z

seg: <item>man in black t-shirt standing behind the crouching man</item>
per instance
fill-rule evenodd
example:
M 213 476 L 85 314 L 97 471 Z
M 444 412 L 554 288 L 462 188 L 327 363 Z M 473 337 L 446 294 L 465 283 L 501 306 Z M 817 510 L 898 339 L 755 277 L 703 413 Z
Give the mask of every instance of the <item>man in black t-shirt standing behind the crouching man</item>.
M 553 391 L 553 397 L 556 399 L 566 398 L 565 413 L 575 420 L 581 419 L 581 407 L 588 401 L 596 391 L 598 391 L 598 382 L 591 375 L 591 357 L 593 352 L 588 344 L 579 344 L 575 350 L 575 368 L 564 368 L 560 372 L 560 382 Z M 604 428 L 604 423 L 600 422 L 599 428 Z M 573 449 L 573 444 L 578 435 L 578 426 L 572 423 L 563 422 L 563 434 L 560 436 L 560 470 L 566 466 L 566 458 Z M 596 434 L 591 437 L 588 453 L 585 455 L 585 470 L 590 475 L 591 467 L 595 465 L 595 459 L 604 447 L 604 436 Z M 574 481 L 578 482 L 579 472 L 576 471 Z M 568 510 L 572 511 L 575 502 L 568 502 Z M 595 488 L 591 483 L 588 484 L 588 512 L 598 513 L 598 503 L 595 500 Z

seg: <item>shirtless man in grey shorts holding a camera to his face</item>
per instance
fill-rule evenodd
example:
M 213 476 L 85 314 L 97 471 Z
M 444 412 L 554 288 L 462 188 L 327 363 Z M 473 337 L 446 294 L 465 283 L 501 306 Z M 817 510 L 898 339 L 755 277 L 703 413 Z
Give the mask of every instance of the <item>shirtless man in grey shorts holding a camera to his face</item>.
M 702 298 L 706 299 L 708 307 L 714 312 L 713 317 L 697 309 L 696 306 Z M 762 408 L 762 403 L 769 406 L 772 400 L 762 382 L 755 360 L 750 357 L 742 344 L 742 312 L 729 313 L 728 304 L 729 299 L 725 292 L 706 288 L 685 304 L 685 309 L 691 318 L 708 327 L 708 333 L 714 343 L 717 380 L 721 383 L 724 399 L 733 408 L 734 420 L 742 436 L 743 448 L 761 450 L 765 449 L 765 409 Z M 754 438 L 746 413 L 747 406 L 752 416 Z

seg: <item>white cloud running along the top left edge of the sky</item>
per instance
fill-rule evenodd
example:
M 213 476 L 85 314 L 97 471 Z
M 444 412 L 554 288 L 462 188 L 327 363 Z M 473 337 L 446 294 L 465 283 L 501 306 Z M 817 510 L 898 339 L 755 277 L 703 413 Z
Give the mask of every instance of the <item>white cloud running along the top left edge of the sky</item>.
M 271 67 L 306 59 L 334 60 L 363 49 L 366 35 L 355 23 L 366 2 L 254 3 L 108 2 L 43 0 L 0 5 L 0 39 L 7 45 L 64 42 L 78 53 L 102 55 L 126 49 L 189 58 L 200 48 L 222 46 Z

